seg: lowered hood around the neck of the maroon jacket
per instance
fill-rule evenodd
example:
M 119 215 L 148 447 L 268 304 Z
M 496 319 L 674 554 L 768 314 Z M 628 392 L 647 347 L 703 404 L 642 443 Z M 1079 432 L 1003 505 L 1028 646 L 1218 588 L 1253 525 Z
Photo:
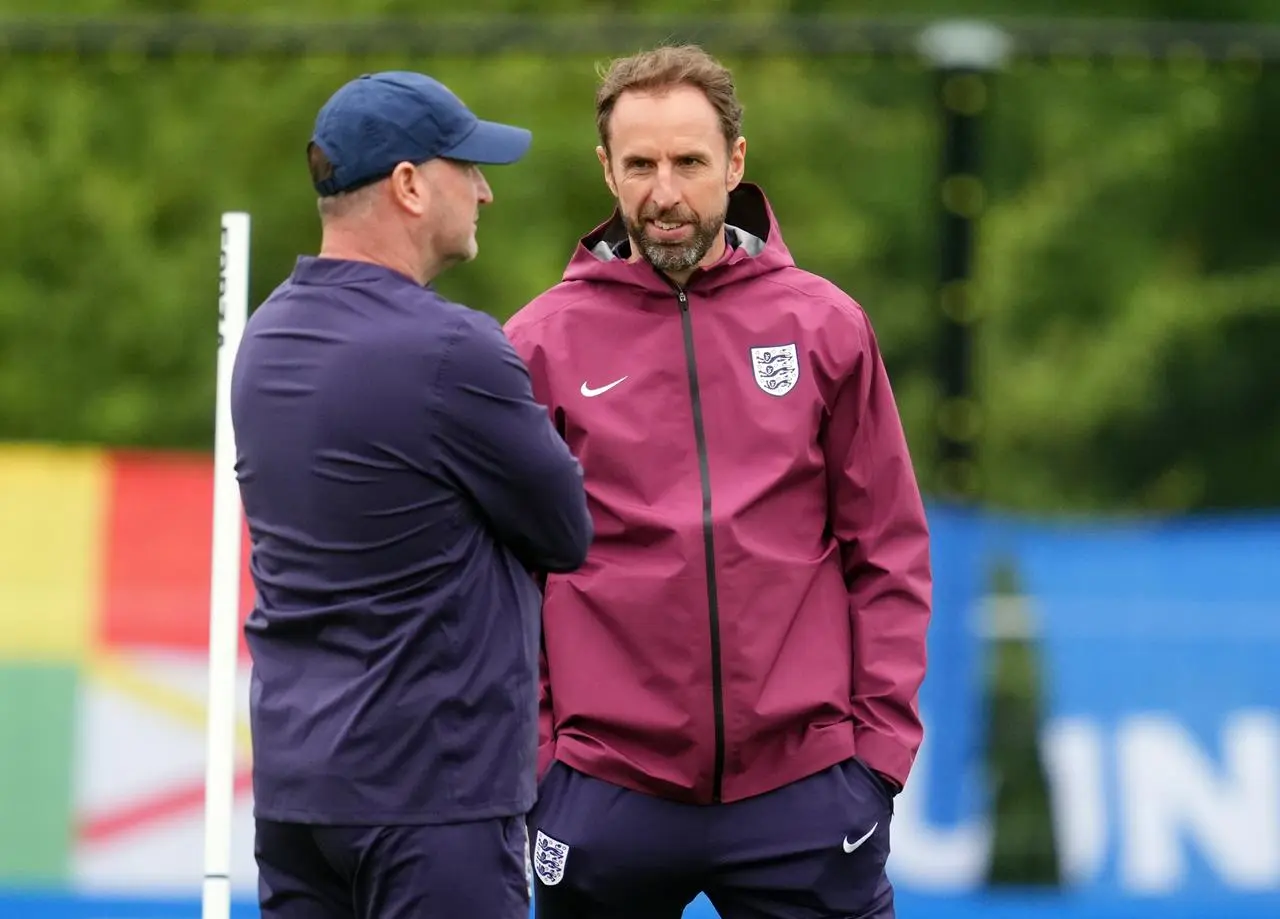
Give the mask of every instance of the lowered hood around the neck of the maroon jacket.
M 742 182 L 730 192 L 724 229 L 731 248 L 724 259 L 694 271 L 686 288 L 710 289 L 794 268 L 773 207 L 759 186 Z M 564 280 L 625 284 L 669 294 L 672 283 L 644 259 L 630 261 L 631 242 L 614 207 L 607 221 L 579 239 Z

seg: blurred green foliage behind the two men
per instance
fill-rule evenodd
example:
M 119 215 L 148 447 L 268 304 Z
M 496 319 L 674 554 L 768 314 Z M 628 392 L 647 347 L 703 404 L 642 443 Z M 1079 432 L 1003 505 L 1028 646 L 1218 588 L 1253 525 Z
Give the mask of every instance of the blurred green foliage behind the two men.
M 740 9 L 758 20 L 783 6 Z M 1103 6 L 1121 14 L 1123 4 Z M 929 4 L 864 12 L 890 8 Z M 946 12 L 1014 9 L 1043 14 L 1052 4 Z M 243 10 L 276 19 L 291 5 Z M 102 0 L 42 12 L 154 8 Z M 378 0 L 307 6 L 314 18 L 357 14 L 421 10 Z M 481 220 L 480 260 L 440 283 L 511 314 L 556 282 L 576 238 L 612 206 L 593 152 L 596 63 L 393 52 L 3 60 L 0 438 L 207 448 L 219 214 L 253 214 L 261 300 L 317 244 L 302 163 L 314 113 L 369 69 L 429 70 L 485 115 L 535 131 L 524 164 L 490 170 L 498 200 Z M 746 102 L 748 175 L 771 193 L 801 265 L 870 312 L 931 488 L 938 138 L 928 77 L 911 61 L 730 63 Z M 1270 474 L 1280 401 L 1267 369 L 1280 349 L 1270 143 L 1280 81 L 1248 68 L 1078 70 L 1015 64 L 988 101 L 974 288 L 987 497 L 1036 509 L 1280 503 Z

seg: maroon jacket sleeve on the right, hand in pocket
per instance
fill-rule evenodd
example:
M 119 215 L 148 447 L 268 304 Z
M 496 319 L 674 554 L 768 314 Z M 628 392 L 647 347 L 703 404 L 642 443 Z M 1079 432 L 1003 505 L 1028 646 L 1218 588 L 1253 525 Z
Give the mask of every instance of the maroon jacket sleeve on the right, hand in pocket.
M 860 311 L 858 337 L 827 422 L 828 504 L 849 587 L 856 755 L 901 787 L 923 737 L 929 532 L 888 375 Z

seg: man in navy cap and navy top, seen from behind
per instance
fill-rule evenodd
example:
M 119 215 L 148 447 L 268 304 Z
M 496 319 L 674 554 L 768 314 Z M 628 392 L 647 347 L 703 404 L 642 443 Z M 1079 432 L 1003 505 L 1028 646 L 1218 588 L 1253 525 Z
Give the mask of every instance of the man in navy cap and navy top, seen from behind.
M 480 164 L 529 143 L 415 73 L 316 119 L 321 248 L 232 384 L 266 919 L 527 915 L 534 576 L 577 568 L 591 520 L 499 324 L 431 282 L 476 256 Z

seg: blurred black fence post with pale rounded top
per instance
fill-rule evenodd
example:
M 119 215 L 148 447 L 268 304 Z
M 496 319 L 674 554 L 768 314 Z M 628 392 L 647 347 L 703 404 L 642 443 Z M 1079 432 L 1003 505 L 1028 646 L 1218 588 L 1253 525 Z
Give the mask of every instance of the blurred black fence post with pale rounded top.
M 978 438 L 983 417 L 974 380 L 974 325 L 980 303 L 972 287 L 977 223 L 987 202 L 982 128 L 992 73 L 1004 64 L 1009 41 L 986 23 L 943 22 L 922 35 L 922 51 L 933 68 L 941 119 L 938 493 L 969 503 L 982 493 Z

